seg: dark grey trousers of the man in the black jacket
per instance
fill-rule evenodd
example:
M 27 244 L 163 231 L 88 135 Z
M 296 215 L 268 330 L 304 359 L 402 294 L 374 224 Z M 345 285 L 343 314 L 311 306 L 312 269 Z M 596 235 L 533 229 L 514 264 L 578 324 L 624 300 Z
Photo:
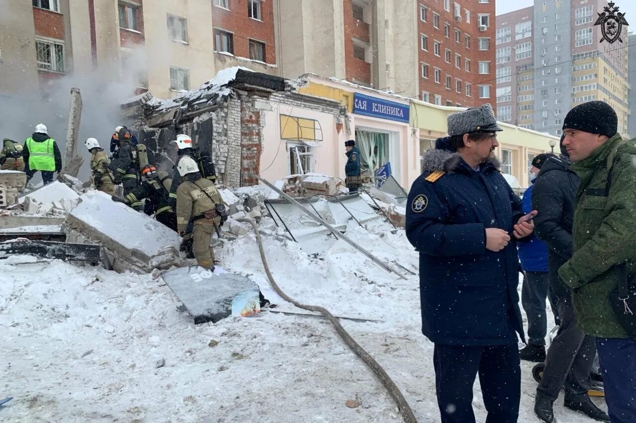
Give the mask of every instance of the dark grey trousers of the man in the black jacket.
M 595 338 L 575 325 L 572 298 L 559 297 L 557 307 L 561 325 L 548 349 L 546 367 L 537 387 L 537 392 L 546 394 L 552 401 L 558 397 L 561 387 L 569 399 L 587 394 L 596 354 Z

